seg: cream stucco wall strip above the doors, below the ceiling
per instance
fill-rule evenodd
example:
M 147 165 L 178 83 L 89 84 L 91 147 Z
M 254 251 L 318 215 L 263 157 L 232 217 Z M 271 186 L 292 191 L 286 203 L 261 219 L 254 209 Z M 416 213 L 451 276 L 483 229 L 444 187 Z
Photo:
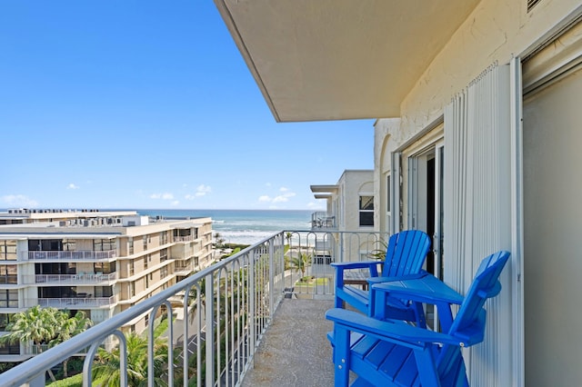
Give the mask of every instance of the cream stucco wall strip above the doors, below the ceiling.
M 437 121 L 451 97 L 488 65 L 507 64 L 513 56 L 528 54 L 582 7 L 575 0 L 543 0 L 527 13 L 526 3 L 487 0 L 477 6 L 402 102 L 400 127 L 387 133 L 388 151 Z M 384 121 L 378 120 L 376 127 Z

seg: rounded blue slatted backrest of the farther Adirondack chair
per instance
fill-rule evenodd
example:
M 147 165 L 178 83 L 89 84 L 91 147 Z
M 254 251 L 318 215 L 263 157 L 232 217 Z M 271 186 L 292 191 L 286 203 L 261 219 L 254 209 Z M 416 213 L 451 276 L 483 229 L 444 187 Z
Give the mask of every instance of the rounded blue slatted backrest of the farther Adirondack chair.
M 422 231 L 406 230 L 395 233 L 388 239 L 382 276 L 419 273 L 429 248 L 430 237 Z

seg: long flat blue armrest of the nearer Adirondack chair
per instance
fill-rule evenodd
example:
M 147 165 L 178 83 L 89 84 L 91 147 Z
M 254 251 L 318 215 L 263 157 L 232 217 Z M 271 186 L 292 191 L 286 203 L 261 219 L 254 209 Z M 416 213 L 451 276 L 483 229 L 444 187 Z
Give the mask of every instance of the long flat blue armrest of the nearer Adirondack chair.
M 380 321 L 361 313 L 346 309 L 330 309 L 326 319 L 350 332 L 364 333 L 386 342 L 395 342 L 409 348 L 419 348 L 430 343 L 469 346 L 476 342 L 465 342 L 447 333 L 433 332 L 394 320 Z

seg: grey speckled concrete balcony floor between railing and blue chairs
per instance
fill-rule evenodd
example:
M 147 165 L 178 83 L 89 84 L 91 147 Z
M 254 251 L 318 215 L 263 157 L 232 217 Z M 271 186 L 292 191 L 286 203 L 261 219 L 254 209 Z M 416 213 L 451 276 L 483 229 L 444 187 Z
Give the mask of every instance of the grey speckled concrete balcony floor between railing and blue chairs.
M 333 324 L 325 317 L 333 305 L 333 301 L 284 299 L 242 385 L 334 385 L 332 350 L 326 338 Z

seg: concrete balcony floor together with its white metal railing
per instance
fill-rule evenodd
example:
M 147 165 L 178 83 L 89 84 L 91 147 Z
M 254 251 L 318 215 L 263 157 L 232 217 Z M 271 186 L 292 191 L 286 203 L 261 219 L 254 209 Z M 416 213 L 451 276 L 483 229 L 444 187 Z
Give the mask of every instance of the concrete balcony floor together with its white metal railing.
M 375 251 L 386 239 L 386 234 L 372 232 L 276 233 L 4 372 L 3 382 L 44 386 L 48 368 L 88 347 L 83 383 L 89 386 L 95 353 L 105 340 L 121 338 L 122 330 L 129 331 L 139 319 L 154 322 L 165 314 L 173 323 L 163 336 L 168 352 L 176 353 L 164 370 L 168 385 L 331 385 L 334 367 L 326 341 L 331 324 L 324 313 L 333 305 L 334 270 L 316 261 L 317 242 L 326 242 L 330 262 L 346 262 L 359 260 L 362 251 Z M 311 259 L 305 273 L 289 266 L 289 258 L 298 253 Z M 300 283 L 304 277 L 314 280 Z M 95 307 L 97 300 L 103 306 L 115 303 L 115 297 L 32 301 L 83 309 Z M 150 340 L 154 325 L 145 332 Z M 153 351 L 148 350 L 149 359 Z M 180 372 L 200 367 L 206 372 Z M 155 368 L 148 368 L 154 385 Z M 122 369 L 120 375 L 125 374 Z

